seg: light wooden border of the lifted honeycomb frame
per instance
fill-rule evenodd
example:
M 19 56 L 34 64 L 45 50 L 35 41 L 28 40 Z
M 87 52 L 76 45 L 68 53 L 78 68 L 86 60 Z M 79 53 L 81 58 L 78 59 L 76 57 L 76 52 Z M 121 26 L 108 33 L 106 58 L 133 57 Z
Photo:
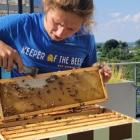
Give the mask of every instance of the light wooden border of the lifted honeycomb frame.
M 95 104 L 95 103 L 100 103 L 100 102 L 106 101 L 108 99 L 108 97 L 107 97 L 107 93 L 106 93 L 104 83 L 102 81 L 102 77 L 101 77 L 98 67 L 89 67 L 89 68 L 82 68 L 82 69 L 75 69 L 75 70 L 52 72 L 52 73 L 47 73 L 47 74 L 39 74 L 36 77 L 25 76 L 25 77 L 20 77 L 20 78 L 13 78 L 13 79 L 2 79 L 2 80 L 0 80 L 0 84 L 2 87 L 2 86 L 5 86 L 6 84 L 8 85 L 9 83 L 16 83 L 16 84 L 19 84 L 19 85 L 22 85 L 23 87 L 25 87 L 25 84 L 23 85 L 23 81 L 24 81 L 24 83 L 27 82 L 28 84 L 31 84 L 30 86 L 32 86 L 32 85 L 34 86 L 34 84 L 35 84 L 35 86 L 38 86 L 38 84 L 41 83 L 41 81 L 44 82 L 46 80 L 46 78 L 50 78 L 51 76 L 54 76 L 54 75 L 58 76 L 58 77 L 64 77 L 64 76 L 70 77 L 71 74 L 76 74 L 76 75 L 85 74 L 86 75 L 86 73 L 88 73 L 88 72 L 92 73 L 91 74 L 92 80 L 98 81 L 98 83 L 97 83 L 98 87 L 97 87 L 97 85 L 94 85 L 95 82 L 92 82 L 92 80 L 88 81 L 88 82 L 91 82 L 90 86 L 93 86 L 93 88 L 96 90 L 96 92 L 99 92 L 99 94 L 100 94 L 99 99 L 91 98 L 90 100 L 86 100 L 86 101 L 82 101 L 82 102 L 79 102 L 79 101 L 74 102 L 74 103 L 69 102 L 69 104 L 58 105 L 56 107 L 53 106 L 53 107 L 46 108 L 46 109 L 39 109 L 37 111 L 32 110 L 30 112 L 24 112 L 24 113 L 19 113 L 19 114 L 15 114 L 15 115 L 5 116 L 3 113 L 3 104 L 2 104 L 2 100 L 3 100 L 2 92 L 3 91 L 1 91 L 1 94 L 0 94 L 1 95 L 1 102 L 0 102 L 1 103 L 0 104 L 1 118 L 3 119 L 3 121 L 13 121 L 16 119 L 32 118 L 38 114 L 42 114 L 42 116 L 44 116 L 44 115 L 46 116 L 47 114 L 50 114 L 52 112 L 58 112 L 60 110 L 66 110 L 66 109 L 75 108 L 78 106 L 90 105 L 90 104 Z M 94 73 L 96 74 L 96 77 L 95 77 Z M 69 80 L 69 83 L 72 83 L 72 81 Z M 86 81 L 85 81 L 85 84 L 88 84 L 88 83 L 86 83 Z M 86 93 L 81 92 L 80 94 L 88 94 L 88 92 L 86 92 Z

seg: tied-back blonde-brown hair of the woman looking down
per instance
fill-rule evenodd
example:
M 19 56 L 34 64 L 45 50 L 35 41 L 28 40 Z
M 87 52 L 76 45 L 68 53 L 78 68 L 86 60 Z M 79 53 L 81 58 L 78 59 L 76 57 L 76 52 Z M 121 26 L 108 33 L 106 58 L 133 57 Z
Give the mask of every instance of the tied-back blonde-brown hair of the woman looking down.
M 72 12 L 85 19 L 85 24 L 89 25 L 93 18 L 93 0 L 44 0 L 46 6 L 60 8 L 66 12 Z

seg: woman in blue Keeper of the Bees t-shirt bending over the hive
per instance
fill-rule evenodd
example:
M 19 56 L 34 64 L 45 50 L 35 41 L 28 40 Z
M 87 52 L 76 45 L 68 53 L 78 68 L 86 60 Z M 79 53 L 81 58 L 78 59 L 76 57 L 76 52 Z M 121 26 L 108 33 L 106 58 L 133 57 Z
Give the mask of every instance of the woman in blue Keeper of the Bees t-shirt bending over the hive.
M 44 0 L 44 13 L 15 14 L 0 18 L 0 66 L 12 77 L 23 66 L 39 73 L 89 67 L 96 63 L 94 36 L 88 27 L 93 17 L 92 0 Z M 18 66 L 13 69 L 14 65 Z M 104 81 L 111 71 L 101 68 Z

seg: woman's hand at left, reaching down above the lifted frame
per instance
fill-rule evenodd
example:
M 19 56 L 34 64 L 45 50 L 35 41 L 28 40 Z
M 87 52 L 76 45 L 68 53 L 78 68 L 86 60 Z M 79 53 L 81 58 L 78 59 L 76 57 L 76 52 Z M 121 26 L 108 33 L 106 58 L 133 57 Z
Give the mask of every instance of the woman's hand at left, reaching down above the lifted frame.
M 3 67 L 7 71 L 11 71 L 17 65 L 18 71 L 23 72 L 23 63 L 18 52 L 8 46 L 3 41 L 0 41 L 0 67 Z

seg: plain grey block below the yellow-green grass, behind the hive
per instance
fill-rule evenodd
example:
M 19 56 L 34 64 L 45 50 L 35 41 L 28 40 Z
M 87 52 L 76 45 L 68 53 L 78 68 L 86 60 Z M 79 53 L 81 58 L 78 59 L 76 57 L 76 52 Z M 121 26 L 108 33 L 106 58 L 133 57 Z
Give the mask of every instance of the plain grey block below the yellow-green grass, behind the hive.
M 131 116 L 136 117 L 136 89 L 133 82 L 107 84 L 109 100 L 101 105 Z

